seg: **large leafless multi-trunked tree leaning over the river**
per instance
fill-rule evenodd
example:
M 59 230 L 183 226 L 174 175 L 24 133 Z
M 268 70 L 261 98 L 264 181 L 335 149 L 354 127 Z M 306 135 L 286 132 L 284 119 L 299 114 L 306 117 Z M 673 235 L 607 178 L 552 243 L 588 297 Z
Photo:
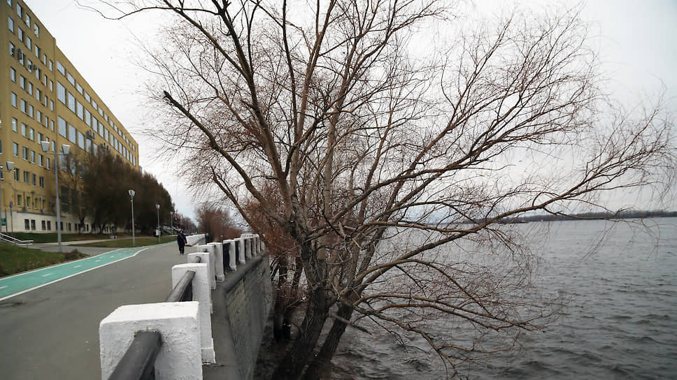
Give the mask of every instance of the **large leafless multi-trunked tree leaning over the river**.
M 156 134 L 197 184 L 294 242 L 307 305 L 275 379 L 317 379 L 363 318 L 419 335 L 452 375 L 510 349 L 559 304 L 534 292 L 533 256 L 497 222 L 606 210 L 605 191 L 674 170 L 671 123 L 608 106 L 575 12 L 443 47 L 422 40 L 453 26 L 443 1 L 115 4 L 115 17 L 176 17 L 148 48 L 171 126 Z M 440 320 L 471 333 L 433 333 Z

